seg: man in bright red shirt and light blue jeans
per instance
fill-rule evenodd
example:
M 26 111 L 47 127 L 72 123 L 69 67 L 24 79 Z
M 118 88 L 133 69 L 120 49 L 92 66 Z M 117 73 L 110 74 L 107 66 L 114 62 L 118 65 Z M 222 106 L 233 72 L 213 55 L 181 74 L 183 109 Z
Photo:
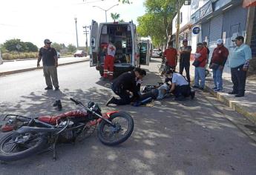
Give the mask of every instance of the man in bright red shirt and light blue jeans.
M 194 69 L 194 88 L 199 88 L 203 90 L 206 82 L 206 59 L 207 59 L 207 50 L 203 47 L 203 43 L 197 43 L 197 52 L 194 54 L 195 60 L 199 62 Z M 199 78 L 201 79 L 199 85 Z

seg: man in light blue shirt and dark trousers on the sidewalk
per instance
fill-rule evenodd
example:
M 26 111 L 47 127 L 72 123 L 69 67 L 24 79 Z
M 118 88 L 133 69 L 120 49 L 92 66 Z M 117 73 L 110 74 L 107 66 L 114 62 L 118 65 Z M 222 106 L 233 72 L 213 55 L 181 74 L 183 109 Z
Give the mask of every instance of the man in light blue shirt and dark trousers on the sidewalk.
M 233 90 L 229 94 L 241 97 L 245 92 L 246 72 L 249 68 L 249 60 L 252 59 L 252 50 L 249 45 L 243 43 L 243 36 L 237 36 L 232 42 L 235 42 L 237 47 L 234 48 L 232 56 L 229 58 L 233 82 Z

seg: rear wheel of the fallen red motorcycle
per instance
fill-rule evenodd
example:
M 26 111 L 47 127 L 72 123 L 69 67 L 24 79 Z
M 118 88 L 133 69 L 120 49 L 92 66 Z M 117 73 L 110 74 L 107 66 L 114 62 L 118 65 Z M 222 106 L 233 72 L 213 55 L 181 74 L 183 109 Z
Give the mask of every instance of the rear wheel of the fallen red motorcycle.
M 0 139 L 0 160 L 13 161 L 25 158 L 41 151 L 46 144 L 47 139 L 33 133 L 7 133 Z

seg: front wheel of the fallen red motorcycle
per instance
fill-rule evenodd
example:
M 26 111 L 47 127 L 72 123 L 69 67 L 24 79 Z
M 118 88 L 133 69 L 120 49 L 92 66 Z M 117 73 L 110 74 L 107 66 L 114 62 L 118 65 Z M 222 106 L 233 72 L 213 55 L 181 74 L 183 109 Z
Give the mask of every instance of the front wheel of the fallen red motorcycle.
M 119 145 L 125 142 L 134 131 L 134 119 L 128 113 L 113 113 L 109 120 L 114 125 L 102 120 L 97 130 L 97 136 L 104 145 Z

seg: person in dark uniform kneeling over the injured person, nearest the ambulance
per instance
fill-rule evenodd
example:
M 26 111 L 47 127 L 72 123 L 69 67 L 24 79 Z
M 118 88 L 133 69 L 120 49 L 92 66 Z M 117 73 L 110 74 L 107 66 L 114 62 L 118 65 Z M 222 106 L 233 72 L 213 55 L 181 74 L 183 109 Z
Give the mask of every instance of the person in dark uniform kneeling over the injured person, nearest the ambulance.
M 106 105 L 128 105 L 134 99 L 138 99 L 140 97 L 140 83 L 145 75 L 145 70 L 135 68 L 133 71 L 122 73 L 121 76 L 114 79 L 111 89 L 120 99 L 116 99 L 113 96 L 108 100 Z M 130 92 L 133 93 L 132 97 L 130 97 Z

